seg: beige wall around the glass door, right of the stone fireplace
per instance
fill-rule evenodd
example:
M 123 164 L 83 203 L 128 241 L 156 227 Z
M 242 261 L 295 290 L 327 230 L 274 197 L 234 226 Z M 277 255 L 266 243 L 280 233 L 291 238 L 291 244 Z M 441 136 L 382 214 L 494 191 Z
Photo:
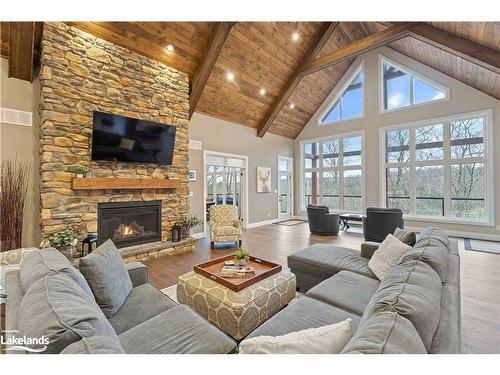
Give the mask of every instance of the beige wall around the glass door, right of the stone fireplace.
M 189 169 L 197 171 L 197 181 L 189 183 L 192 192 L 190 209 L 193 215 L 204 216 L 203 150 L 248 156 L 248 223 L 277 219 L 278 156 L 293 157 L 292 139 L 275 134 L 258 138 L 255 129 L 195 113 L 189 125 L 189 138 L 202 143 L 201 150 L 189 150 Z M 257 167 L 270 167 L 271 193 L 257 193 Z M 196 228 L 195 231 L 201 231 Z

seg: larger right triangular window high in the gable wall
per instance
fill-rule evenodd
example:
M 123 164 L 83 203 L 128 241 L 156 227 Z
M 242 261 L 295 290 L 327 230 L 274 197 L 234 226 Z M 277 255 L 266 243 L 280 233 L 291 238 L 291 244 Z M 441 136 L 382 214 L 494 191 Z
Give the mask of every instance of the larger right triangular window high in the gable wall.
M 382 59 L 382 84 L 384 111 L 411 107 L 449 97 L 449 90 L 446 87 L 386 59 Z

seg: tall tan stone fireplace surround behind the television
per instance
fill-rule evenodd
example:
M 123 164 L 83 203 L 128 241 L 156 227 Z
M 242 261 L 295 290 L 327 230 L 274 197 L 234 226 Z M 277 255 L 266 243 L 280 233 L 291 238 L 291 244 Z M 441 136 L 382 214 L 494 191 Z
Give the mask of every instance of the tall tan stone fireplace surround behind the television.
M 163 244 L 159 246 L 156 242 L 151 252 L 150 248 L 144 250 L 144 245 L 132 246 L 145 251 L 148 257 L 178 246 L 169 243 L 171 229 L 180 216 L 189 213 L 187 74 L 60 22 L 44 24 L 40 61 L 42 234 L 75 226 L 80 229 L 83 238 L 89 233 L 102 232 L 102 223 L 98 221 L 101 209 L 104 209 L 102 214 L 107 215 L 104 207 L 112 207 L 116 203 L 123 206 L 124 212 L 130 212 L 130 207 L 124 208 L 125 204 L 143 204 L 150 208 L 150 202 L 160 202 L 155 208 L 154 216 L 160 218 L 159 224 L 158 221 L 155 223 L 154 238 L 149 222 L 145 225 L 141 223 L 142 219 L 136 219 L 135 224 L 133 221 L 128 224 L 123 222 L 123 226 L 114 228 L 113 233 L 101 233 L 99 241 L 113 236 L 121 247 L 125 247 L 132 230 L 137 240 L 144 237 L 145 241 L 148 237 L 148 241 L 161 241 Z M 175 126 L 172 165 L 91 160 L 94 111 Z M 146 186 L 82 190 L 72 183 L 78 166 L 90 170 L 94 178 L 108 181 L 171 179 L 179 181 L 179 184 L 175 188 Z M 144 233 L 137 234 L 143 230 Z M 120 231 L 124 234 L 119 239 Z M 189 246 L 194 247 L 192 244 Z

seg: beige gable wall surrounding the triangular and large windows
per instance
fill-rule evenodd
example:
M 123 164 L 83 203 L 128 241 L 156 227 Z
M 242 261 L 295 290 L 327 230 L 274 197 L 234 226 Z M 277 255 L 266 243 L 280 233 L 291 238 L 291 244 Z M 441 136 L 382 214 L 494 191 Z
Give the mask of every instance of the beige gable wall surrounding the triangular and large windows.
M 420 107 L 402 109 L 389 113 L 379 113 L 379 84 L 378 84 L 378 55 L 384 55 L 395 62 L 398 62 L 411 70 L 420 73 L 450 89 L 450 100 L 422 105 Z M 318 126 L 318 119 L 331 104 L 338 89 L 346 84 L 358 64 L 364 60 L 365 74 L 365 97 L 364 97 L 364 117 L 349 121 L 338 122 L 328 126 Z M 295 207 L 299 207 L 300 197 L 300 165 L 298 159 L 300 155 L 300 140 L 324 137 L 335 134 L 343 134 L 354 131 L 364 131 L 365 133 L 365 202 L 366 206 L 382 206 L 380 201 L 380 190 L 382 181 L 380 181 L 379 165 L 379 129 L 381 127 L 404 124 L 414 121 L 422 121 L 443 116 L 450 116 L 466 112 L 479 110 L 493 110 L 493 130 L 494 130 L 494 166 L 498 171 L 500 166 L 500 101 L 486 95 L 470 86 L 467 86 L 445 74 L 442 74 L 426 65 L 420 64 L 390 48 L 384 47 L 372 51 L 368 54 L 358 57 L 355 63 L 346 72 L 337 87 L 332 91 L 325 102 L 320 106 L 315 115 L 295 140 Z M 500 240 L 500 173 L 494 173 L 494 192 L 495 192 L 495 218 L 493 226 L 482 225 L 464 225 L 439 223 L 443 229 L 450 234 L 476 235 L 482 238 Z M 297 212 L 298 213 L 298 212 Z M 406 221 L 408 227 L 422 228 L 431 225 L 430 222 Z

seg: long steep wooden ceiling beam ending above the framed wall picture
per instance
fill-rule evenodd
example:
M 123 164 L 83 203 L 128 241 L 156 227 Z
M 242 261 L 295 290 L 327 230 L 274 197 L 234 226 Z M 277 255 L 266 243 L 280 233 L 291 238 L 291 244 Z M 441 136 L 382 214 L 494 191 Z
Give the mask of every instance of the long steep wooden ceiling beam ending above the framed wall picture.
M 264 134 L 266 134 L 267 130 L 269 129 L 269 127 L 273 123 L 274 119 L 276 118 L 278 113 L 281 111 L 283 106 L 286 104 L 290 95 L 292 95 L 293 90 L 295 90 L 295 88 L 299 84 L 300 79 L 301 79 L 301 76 L 299 74 L 299 70 L 303 66 L 305 66 L 307 63 L 309 63 L 310 61 L 315 59 L 316 56 L 318 56 L 321 49 L 324 47 L 326 42 L 328 42 L 328 39 L 330 39 L 330 36 L 335 31 L 337 26 L 338 26 L 338 22 L 327 23 L 318 32 L 318 36 L 316 37 L 316 40 L 311 44 L 311 47 L 309 48 L 309 50 L 306 52 L 306 54 L 302 58 L 301 62 L 299 63 L 298 69 L 296 69 L 292 73 L 292 75 L 288 78 L 288 81 L 286 82 L 285 86 L 281 89 L 281 92 L 278 95 L 278 98 L 274 101 L 273 105 L 271 106 L 271 109 L 267 112 L 266 116 L 264 117 L 264 120 L 259 125 L 259 127 L 257 129 L 257 136 L 262 138 L 264 136 Z

